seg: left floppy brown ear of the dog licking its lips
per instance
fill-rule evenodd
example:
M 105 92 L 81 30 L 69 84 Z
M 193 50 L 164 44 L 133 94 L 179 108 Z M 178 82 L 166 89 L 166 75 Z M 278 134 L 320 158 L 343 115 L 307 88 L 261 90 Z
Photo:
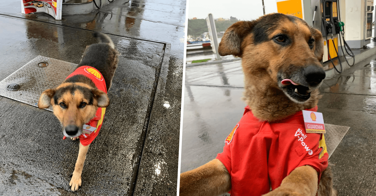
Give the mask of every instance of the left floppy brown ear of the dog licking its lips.
M 223 34 L 218 46 L 218 53 L 221 56 L 232 54 L 241 57 L 241 42 L 251 33 L 255 24 L 256 21 L 239 21 L 232 24 Z

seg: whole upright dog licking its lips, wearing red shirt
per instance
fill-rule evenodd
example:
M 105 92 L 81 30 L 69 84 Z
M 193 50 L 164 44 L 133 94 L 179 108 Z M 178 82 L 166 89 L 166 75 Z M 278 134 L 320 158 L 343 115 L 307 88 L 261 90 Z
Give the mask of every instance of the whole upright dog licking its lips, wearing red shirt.
M 179 195 L 335 196 L 324 136 L 302 115 L 317 111 L 325 78 L 320 31 L 272 13 L 232 24 L 218 53 L 242 58 L 248 106 L 223 153 L 180 174 Z

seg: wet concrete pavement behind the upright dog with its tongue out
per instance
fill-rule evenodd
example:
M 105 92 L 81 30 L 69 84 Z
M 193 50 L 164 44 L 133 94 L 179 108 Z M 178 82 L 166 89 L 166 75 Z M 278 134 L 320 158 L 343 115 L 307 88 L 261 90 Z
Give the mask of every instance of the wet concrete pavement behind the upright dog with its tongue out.
M 320 88 L 324 122 L 350 127 L 331 135 L 343 137 L 329 159 L 338 195 L 376 195 L 375 67 L 373 55 Z M 180 172 L 215 159 L 246 106 L 240 62 L 188 67 L 185 73 Z

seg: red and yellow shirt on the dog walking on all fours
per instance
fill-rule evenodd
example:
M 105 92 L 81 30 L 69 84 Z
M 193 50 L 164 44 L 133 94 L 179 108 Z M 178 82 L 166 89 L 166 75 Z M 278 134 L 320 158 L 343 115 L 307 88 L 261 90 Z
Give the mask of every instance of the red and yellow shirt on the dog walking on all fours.
M 66 79 L 74 75 L 84 75 L 88 77 L 89 79 L 91 79 L 92 82 L 94 82 L 94 84 L 99 90 L 107 93 L 105 79 L 103 78 L 102 74 L 94 67 L 81 66 L 77 68 L 73 73 L 71 73 Z M 79 136 L 82 145 L 87 146 L 91 144 L 91 142 L 97 137 L 100 127 L 102 127 L 105 112 L 106 108 L 98 108 L 95 117 L 92 118 L 88 123 L 86 123 L 86 125 L 96 127 L 96 129 L 94 131 L 83 129 L 82 134 Z

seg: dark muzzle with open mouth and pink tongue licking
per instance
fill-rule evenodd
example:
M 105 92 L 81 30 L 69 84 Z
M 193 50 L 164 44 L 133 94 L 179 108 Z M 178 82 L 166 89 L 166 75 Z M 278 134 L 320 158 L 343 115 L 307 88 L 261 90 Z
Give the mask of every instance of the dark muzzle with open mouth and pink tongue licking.
M 310 65 L 289 76 L 279 72 L 278 86 L 292 101 L 304 103 L 311 97 L 312 90 L 320 87 L 324 78 L 322 67 Z

